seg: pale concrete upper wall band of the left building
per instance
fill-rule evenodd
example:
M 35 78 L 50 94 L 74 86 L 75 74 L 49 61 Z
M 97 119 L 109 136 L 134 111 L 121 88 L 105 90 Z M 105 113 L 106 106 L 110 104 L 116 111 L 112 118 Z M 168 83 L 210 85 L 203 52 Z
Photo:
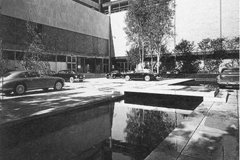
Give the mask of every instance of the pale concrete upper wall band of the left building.
M 1 0 L 4 15 L 99 38 L 109 37 L 109 18 L 72 0 Z

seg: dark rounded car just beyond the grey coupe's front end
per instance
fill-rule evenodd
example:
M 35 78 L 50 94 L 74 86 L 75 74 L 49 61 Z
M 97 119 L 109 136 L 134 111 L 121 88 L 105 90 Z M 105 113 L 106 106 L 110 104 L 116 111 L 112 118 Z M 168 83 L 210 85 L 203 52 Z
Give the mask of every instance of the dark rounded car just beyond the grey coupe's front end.
M 80 73 L 76 73 L 74 71 L 71 70 L 60 70 L 58 71 L 58 73 L 53 74 L 52 76 L 54 77 L 61 77 L 63 78 L 66 82 L 82 82 L 85 79 L 85 76 L 80 74 Z

